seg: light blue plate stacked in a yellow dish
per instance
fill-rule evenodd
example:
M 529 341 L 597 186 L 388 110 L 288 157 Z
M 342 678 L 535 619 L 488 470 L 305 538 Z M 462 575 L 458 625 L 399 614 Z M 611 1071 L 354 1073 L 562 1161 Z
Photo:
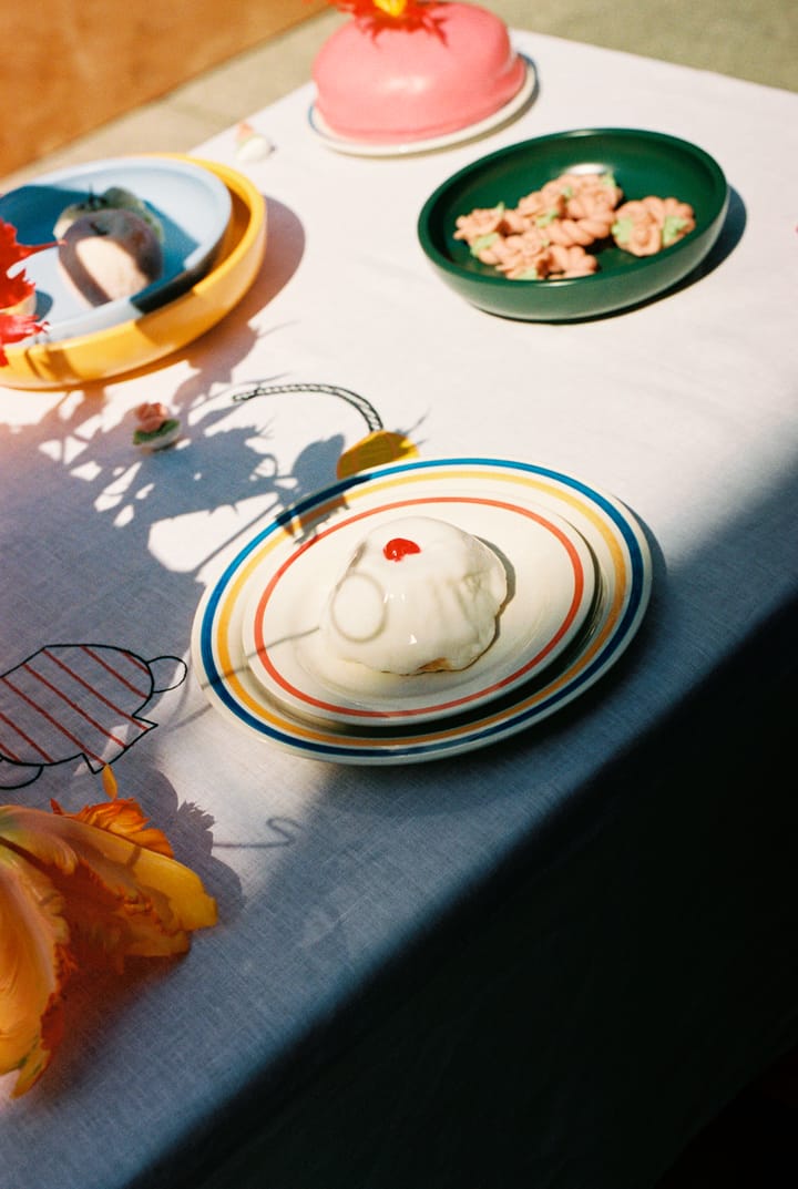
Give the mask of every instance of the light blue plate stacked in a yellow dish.
M 180 155 L 108 158 L 44 175 L 0 197 L 20 244 L 54 239 L 73 203 L 130 190 L 163 227 L 163 270 L 130 298 L 90 306 L 64 279 L 57 249 L 25 260 L 46 329 L 6 348 L 0 383 L 55 388 L 106 379 L 184 346 L 252 284 L 265 250 L 265 205 L 235 170 Z

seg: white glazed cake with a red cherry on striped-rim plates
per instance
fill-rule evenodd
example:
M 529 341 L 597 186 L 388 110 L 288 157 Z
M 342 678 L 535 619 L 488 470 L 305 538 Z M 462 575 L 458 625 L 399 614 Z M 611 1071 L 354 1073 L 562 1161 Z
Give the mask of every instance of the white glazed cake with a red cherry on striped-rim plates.
M 404 517 L 360 542 L 323 608 L 322 638 L 379 672 L 463 669 L 490 647 L 505 598 L 504 566 L 483 541 Z

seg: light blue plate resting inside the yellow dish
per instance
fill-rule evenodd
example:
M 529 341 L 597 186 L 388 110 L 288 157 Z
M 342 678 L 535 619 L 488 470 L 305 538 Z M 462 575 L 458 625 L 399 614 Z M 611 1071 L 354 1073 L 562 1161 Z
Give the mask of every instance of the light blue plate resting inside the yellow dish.
M 20 244 L 45 244 L 74 202 L 124 187 L 161 220 L 163 271 L 133 297 L 90 306 L 63 279 L 56 247 L 25 260 L 34 284 L 36 313 L 48 331 L 37 341 L 61 341 L 119 326 L 172 301 L 212 268 L 230 222 L 230 190 L 201 164 L 161 157 L 118 157 L 45 174 L 0 197 L 0 219 L 17 228 Z

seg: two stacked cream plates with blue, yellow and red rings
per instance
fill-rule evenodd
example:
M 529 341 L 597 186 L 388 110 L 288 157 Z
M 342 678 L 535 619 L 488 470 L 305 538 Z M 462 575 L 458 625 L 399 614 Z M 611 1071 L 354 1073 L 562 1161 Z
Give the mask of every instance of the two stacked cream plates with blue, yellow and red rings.
M 455 524 L 504 562 L 497 636 L 466 669 L 400 677 L 325 649 L 337 578 L 371 529 L 404 516 Z M 296 754 L 431 760 L 523 730 L 587 690 L 636 633 L 649 591 L 634 516 L 578 479 L 492 459 L 397 464 L 320 491 L 251 537 L 200 603 L 195 671 L 216 710 Z

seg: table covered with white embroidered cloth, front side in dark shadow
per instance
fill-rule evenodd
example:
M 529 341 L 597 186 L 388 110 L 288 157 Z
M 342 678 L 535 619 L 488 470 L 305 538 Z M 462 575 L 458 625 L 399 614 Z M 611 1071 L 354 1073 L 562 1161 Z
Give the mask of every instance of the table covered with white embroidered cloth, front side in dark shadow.
M 5 668 L 77 642 L 188 663 L 114 772 L 220 908 L 181 962 L 78 993 L 45 1080 L 0 1105 L 4 1189 L 641 1189 L 798 1038 L 794 776 L 774 767 L 774 707 L 794 707 L 798 97 L 516 37 L 539 95 L 478 143 L 333 153 L 308 86 L 252 115 L 262 159 L 234 130 L 200 146 L 266 197 L 241 304 L 147 373 L 0 392 Z M 623 125 L 727 174 L 699 279 L 560 326 L 440 287 L 415 239 L 440 181 Z M 200 596 L 365 432 L 313 390 L 231 421 L 260 382 L 358 392 L 421 458 L 614 492 L 654 558 L 628 654 L 560 715 L 435 763 L 328 765 L 231 728 L 191 673 Z M 153 400 L 184 448 L 134 451 Z M 98 778 L 68 761 L 4 792 L 77 809 Z

